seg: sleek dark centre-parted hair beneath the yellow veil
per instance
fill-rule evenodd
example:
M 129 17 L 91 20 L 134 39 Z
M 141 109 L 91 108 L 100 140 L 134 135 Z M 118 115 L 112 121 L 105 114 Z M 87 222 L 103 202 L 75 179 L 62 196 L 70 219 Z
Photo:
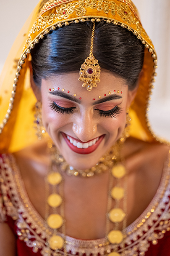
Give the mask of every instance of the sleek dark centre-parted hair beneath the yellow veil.
M 86 21 L 56 29 L 31 51 L 34 82 L 51 74 L 78 72 L 89 56 L 93 23 Z M 96 23 L 93 54 L 101 68 L 126 80 L 133 90 L 144 60 L 144 45 L 131 31 L 105 21 Z

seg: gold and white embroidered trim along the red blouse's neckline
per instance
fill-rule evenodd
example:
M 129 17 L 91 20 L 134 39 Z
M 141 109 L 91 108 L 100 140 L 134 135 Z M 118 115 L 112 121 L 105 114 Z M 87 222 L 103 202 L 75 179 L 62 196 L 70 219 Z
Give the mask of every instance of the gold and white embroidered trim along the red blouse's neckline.
M 93 256 L 97 256 L 98 253 L 101 252 L 101 249 L 104 251 L 107 248 L 107 253 L 114 250 L 119 253 L 126 251 L 127 255 L 144 256 L 149 248 L 149 241 L 151 241 L 153 245 L 156 245 L 158 239 L 161 239 L 166 231 L 170 231 L 170 169 L 167 169 L 168 162 L 169 160 L 165 162 L 159 191 L 157 191 L 152 202 L 144 213 L 142 213 L 141 221 L 138 218 L 133 224 L 127 227 L 126 244 L 128 244 L 128 248 L 126 248 L 123 243 L 119 245 L 119 248 L 117 245 L 107 245 L 107 247 L 105 247 L 105 239 L 97 239 L 94 240 L 94 242 L 90 240 L 81 242 L 74 238 L 67 237 L 67 251 L 71 251 L 72 254 L 73 252 L 81 254 L 82 250 L 84 250 L 86 255 L 92 253 Z M 34 252 L 41 249 L 42 256 L 45 256 L 47 253 L 45 240 L 50 235 L 51 230 L 44 226 L 44 221 L 39 217 L 39 214 L 37 214 L 34 208 L 32 208 L 13 157 L 9 159 L 8 156 L 4 155 L 4 163 L 0 157 L 0 170 L 0 179 L 3 179 L 5 184 L 4 186 L 1 183 L 1 189 L 3 187 L 3 197 L 10 192 L 10 202 L 13 202 L 12 208 L 7 212 L 7 215 L 13 216 L 13 212 L 18 209 L 18 218 L 16 218 L 18 238 L 24 240 L 27 246 L 32 247 Z M 5 201 L 5 207 L 6 209 L 8 208 L 8 201 Z M 144 214 L 148 217 L 144 217 Z M 55 256 L 54 251 L 49 251 L 49 253 Z

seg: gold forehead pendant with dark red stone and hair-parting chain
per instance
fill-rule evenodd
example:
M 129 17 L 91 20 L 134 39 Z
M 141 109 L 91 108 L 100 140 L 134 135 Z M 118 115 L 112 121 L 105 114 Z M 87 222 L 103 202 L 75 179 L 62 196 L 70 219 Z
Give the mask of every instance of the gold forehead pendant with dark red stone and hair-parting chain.
M 93 40 L 94 40 L 94 29 L 95 23 L 92 29 L 92 39 L 90 46 L 90 55 L 85 59 L 84 63 L 81 64 L 78 78 L 79 81 L 84 82 L 82 87 L 86 87 L 88 91 L 92 91 L 93 87 L 97 87 L 97 83 L 100 82 L 100 66 L 98 60 L 93 56 Z

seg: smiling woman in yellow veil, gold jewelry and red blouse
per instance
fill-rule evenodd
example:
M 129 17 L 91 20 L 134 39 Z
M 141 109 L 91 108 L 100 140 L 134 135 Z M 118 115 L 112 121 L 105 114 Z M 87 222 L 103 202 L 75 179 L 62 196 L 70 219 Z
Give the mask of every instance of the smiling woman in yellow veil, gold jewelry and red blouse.
M 136 7 L 44 0 L 30 19 L 1 79 L 2 255 L 170 255 L 170 148 L 147 118 L 157 55 Z

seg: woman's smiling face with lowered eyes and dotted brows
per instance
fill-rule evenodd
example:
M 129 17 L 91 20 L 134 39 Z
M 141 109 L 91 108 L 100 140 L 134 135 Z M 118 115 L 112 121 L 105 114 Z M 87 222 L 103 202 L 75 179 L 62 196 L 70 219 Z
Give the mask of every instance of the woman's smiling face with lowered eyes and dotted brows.
M 37 98 L 44 127 L 60 153 L 74 168 L 85 170 L 120 138 L 134 96 L 125 80 L 102 70 L 92 91 L 82 87 L 78 73 L 54 75 L 42 80 Z

